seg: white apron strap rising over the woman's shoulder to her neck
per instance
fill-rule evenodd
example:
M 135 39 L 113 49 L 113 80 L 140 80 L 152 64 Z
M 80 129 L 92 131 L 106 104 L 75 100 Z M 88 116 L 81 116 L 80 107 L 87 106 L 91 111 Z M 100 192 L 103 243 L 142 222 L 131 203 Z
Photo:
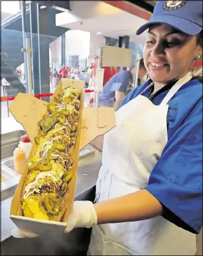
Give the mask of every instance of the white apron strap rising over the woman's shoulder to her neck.
M 166 105 L 169 102 L 169 100 L 171 100 L 171 98 L 174 96 L 174 94 L 178 92 L 181 86 L 190 81 L 191 78 L 192 73 L 188 72 L 184 77 L 179 79 L 177 83 L 172 86 L 171 90 L 169 90 L 169 92 L 167 93 L 166 97 L 162 100 L 162 103 L 160 103 L 160 105 Z

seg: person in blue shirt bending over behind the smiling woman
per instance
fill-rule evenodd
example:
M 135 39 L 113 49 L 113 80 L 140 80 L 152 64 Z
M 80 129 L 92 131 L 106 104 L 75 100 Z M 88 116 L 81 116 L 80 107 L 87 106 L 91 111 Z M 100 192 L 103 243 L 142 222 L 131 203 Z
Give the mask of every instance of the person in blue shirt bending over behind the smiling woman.
M 140 61 L 140 69 L 138 79 L 147 74 L 143 60 Z M 100 94 L 100 104 L 106 107 L 119 107 L 121 101 L 125 98 L 126 93 L 130 91 L 130 86 L 133 83 L 135 74 L 135 66 L 130 70 L 124 70 L 116 73 L 109 81 L 103 86 L 103 91 Z

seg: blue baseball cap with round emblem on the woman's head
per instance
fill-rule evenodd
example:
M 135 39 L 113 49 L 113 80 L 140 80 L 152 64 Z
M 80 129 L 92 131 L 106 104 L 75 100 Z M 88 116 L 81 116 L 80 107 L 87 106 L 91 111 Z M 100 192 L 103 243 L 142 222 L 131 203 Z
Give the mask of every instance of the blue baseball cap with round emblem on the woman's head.
M 188 35 L 197 35 L 202 30 L 202 1 L 159 1 L 150 20 L 136 34 L 153 24 L 167 24 Z

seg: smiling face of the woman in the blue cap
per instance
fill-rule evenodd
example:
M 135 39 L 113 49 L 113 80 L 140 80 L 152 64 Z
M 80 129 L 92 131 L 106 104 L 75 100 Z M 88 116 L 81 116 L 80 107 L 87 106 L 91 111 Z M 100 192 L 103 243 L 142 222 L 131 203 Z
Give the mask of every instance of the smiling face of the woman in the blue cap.
M 167 84 L 182 77 L 201 54 L 196 36 L 183 34 L 165 24 L 149 28 L 143 56 L 153 81 Z

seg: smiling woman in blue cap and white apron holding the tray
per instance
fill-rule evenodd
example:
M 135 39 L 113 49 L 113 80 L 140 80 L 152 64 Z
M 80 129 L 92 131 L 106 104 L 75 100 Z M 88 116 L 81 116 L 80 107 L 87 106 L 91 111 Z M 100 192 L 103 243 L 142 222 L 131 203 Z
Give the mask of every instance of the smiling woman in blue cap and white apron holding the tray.
M 160 1 L 148 29 L 150 80 L 124 99 L 105 135 L 96 203 L 67 221 L 93 227 L 91 255 L 194 255 L 202 227 L 202 1 Z M 167 121 L 167 122 L 166 122 Z

